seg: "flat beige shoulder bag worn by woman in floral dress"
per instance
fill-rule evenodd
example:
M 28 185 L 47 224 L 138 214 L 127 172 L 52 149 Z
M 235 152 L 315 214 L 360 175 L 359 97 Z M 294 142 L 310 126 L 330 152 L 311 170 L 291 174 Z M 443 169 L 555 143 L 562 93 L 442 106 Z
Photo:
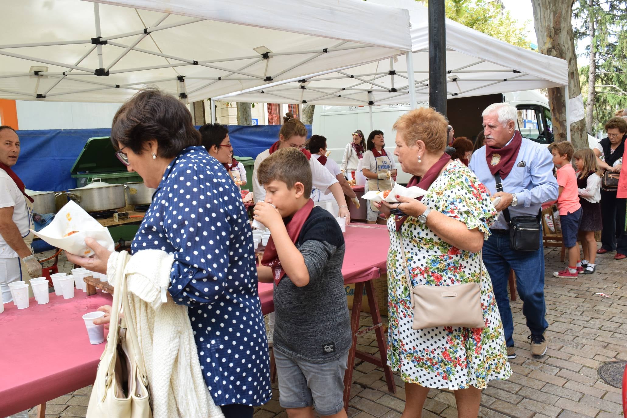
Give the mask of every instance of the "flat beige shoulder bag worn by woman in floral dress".
M 401 253 L 405 264 L 411 308 L 414 311 L 414 322 L 411 325 L 413 330 L 436 327 L 485 328 L 481 307 L 481 288 L 478 283 L 413 287 L 402 235 Z M 483 259 L 480 259 L 480 263 L 483 270 Z M 479 274 L 481 273 L 482 271 Z

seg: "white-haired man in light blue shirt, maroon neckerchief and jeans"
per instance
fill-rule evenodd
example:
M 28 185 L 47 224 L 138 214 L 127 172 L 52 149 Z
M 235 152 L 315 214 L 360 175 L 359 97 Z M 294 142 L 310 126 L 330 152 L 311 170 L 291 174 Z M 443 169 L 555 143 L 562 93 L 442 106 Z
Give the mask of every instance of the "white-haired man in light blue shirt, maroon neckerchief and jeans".
M 544 146 L 523 138 L 516 129 L 517 110 L 507 103 L 494 103 L 482 113 L 485 145 L 470 160 L 470 169 L 488 188 L 493 197 L 500 196 L 496 209 L 501 212 L 490 228 L 492 233 L 483 244 L 483 262 L 492 278 L 494 295 L 507 345 L 507 357 L 515 358 L 514 322 L 507 297 L 510 269 L 516 273 L 516 288 L 527 318 L 533 355 L 544 355 L 547 343 L 544 331 L 544 248 L 540 231 L 535 251 L 510 246 L 509 219 L 516 216 L 538 216 L 544 202 L 557 199 L 557 180 L 553 176 L 552 155 Z M 485 158 L 484 158 L 485 156 Z M 497 178 L 500 179 L 497 191 Z M 508 219 L 506 221 L 506 218 Z M 534 246 L 537 248 L 537 246 Z M 530 246 L 531 248 L 531 246 Z

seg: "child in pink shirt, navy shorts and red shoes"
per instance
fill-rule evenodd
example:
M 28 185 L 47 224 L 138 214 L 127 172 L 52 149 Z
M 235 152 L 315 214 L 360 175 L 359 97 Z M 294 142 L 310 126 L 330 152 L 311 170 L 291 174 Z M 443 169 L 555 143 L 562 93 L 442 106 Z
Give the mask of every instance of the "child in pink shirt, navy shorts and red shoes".
M 581 224 L 581 203 L 579 203 L 579 189 L 577 188 L 577 175 L 572 167 L 571 158 L 575 150 L 570 142 L 554 142 L 551 144 L 553 164 L 557 168 L 557 185 L 559 197 L 557 198 L 557 210 L 562 225 L 562 239 L 568 249 L 568 268 L 556 271 L 554 276 L 560 278 L 577 278 L 577 263 L 579 262 L 579 246 L 577 245 L 577 233 Z

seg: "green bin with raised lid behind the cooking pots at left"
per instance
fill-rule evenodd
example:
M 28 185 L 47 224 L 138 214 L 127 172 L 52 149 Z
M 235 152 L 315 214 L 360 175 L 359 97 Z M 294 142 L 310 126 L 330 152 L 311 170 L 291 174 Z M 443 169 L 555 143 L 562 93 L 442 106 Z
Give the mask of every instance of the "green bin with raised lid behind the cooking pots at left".
M 115 156 L 110 137 L 89 138 L 71 169 L 76 187 L 84 187 L 93 179 L 109 184 L 144 181 L 136 172 L 128 172 L 126 165 Z

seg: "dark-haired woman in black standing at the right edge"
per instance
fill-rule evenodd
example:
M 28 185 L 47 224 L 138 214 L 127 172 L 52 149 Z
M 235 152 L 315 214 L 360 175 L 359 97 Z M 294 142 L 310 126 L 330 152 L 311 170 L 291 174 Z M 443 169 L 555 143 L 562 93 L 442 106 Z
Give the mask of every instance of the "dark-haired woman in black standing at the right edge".
M 603 171 L 621 172 L 623 152 L 627 139 L 627 122 L 621 117 L 613 117 L 605 124 L 608 136 L 599 141 L 593 148 L 596 162 Z M 616 197 L 616 189 L 608 189 L 601 184 L 601 248 L 597 254 L 605 254 L 616 250 L 614 259 L 627 258 L 627 235 L 625 229 L 625 212 L 627 199 Z

